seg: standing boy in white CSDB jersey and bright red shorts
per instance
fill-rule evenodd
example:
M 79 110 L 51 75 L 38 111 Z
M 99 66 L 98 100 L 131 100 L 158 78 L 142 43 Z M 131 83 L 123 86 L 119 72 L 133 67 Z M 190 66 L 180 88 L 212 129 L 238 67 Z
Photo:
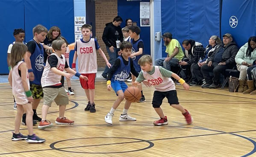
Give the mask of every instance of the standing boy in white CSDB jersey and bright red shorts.
M 97 54 L 96 49 L 99 51 L 100 55 L 106 61 L 107 66 L 110 68 L 111 64 L 106 58 L 104 52 L 100 49 L 100 46 L 96 38 L 91 38 L 92 26 L 89 24 L 84 24 L 81 27 L 82 39 L 76 41 L 75 54 L 73 58 L 72 68 L 76 70 L 76 60 L 78 57 L 78 71 L 83 76 L 88 77 L 88 81 L 80 79 L 82 88 L 85 90 L 85 95 L 88 99 L 88 104 L 85 110 L 90 110 L 90 112 L 96 112 L 94 104 L 94 94 L 95 94 L 95 76 L 97 73 Z

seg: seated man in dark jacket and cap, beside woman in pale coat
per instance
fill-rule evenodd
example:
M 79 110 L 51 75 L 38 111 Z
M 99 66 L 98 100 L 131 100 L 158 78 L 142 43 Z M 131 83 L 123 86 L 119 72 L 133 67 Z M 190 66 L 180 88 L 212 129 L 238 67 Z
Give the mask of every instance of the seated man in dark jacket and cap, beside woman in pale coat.
M 232 35 L 226 33 L 223 35 L 222 47 L 212 53 L 207 64 L 201 67 L 201 72 L 206 84 L 202 88 L 218 88 L 220 85 L 221 73 L 225 73 L 226 69 L 232 69 L 235 66 L 235 55 L 238 48 L 233 41 Z M 210 73 L 213 72 L 213 81 Z

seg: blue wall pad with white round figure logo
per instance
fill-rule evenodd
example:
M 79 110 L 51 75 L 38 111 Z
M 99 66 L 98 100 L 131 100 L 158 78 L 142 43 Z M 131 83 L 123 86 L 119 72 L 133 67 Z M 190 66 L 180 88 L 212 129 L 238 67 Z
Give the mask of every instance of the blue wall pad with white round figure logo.
M 221 34 L 230 33 L 238 47 L 256 35 L 256 0 L 223 0 Z

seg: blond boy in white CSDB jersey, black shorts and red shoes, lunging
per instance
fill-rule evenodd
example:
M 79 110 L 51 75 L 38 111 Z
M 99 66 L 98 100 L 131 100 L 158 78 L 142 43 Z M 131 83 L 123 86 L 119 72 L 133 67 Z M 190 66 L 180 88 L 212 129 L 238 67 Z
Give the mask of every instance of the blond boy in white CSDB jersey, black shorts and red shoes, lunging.
M 137 85 L 138 82 L 147 80 L 152 86 L 155 87 L 152 105 L 156 113 L 160 116 L 159 120 L 153 122 L 154 125 L 167 125 L 167 116 L 164 115 L 162 108 L 163 99 L 166 97 L 168 103 L 175 109 L 181 111 L 183 116 L 185 116 L 187 124 L 191 124 L 193 119 L 188 112 L 181 105 L 179 105 L 179 100 L 177 97 L 177 91 L 175 89 L 174 81 L 171 77 L 179 80 L 185 90 L 189 89 L 189 85 L 180 78 L 176 73 L 172 73 L 159 66 L 152 65 L 152 58 L 150 55 L 142 56 L 138 64 L 141 66 L 141 73 L 137 77 L 133 85 Z

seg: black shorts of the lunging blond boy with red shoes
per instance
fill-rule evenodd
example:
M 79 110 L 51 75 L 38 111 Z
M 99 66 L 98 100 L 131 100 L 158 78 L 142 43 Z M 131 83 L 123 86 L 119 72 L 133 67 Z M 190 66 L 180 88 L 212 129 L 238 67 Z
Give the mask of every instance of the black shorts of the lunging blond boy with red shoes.
M 153 96 L 153 101 L 152 101 L 153 108 L 159 108 L 162 105 L 163 99 L 165 97 L 168 99 L 168 103 L 170 105 L 172 105 L 172 104 L 179 105 L 179 100 L 177 97 L 176 90 L 169 90 L 167 92 L 159 92 L 159 91 L 155 90 L 154 96 Z

